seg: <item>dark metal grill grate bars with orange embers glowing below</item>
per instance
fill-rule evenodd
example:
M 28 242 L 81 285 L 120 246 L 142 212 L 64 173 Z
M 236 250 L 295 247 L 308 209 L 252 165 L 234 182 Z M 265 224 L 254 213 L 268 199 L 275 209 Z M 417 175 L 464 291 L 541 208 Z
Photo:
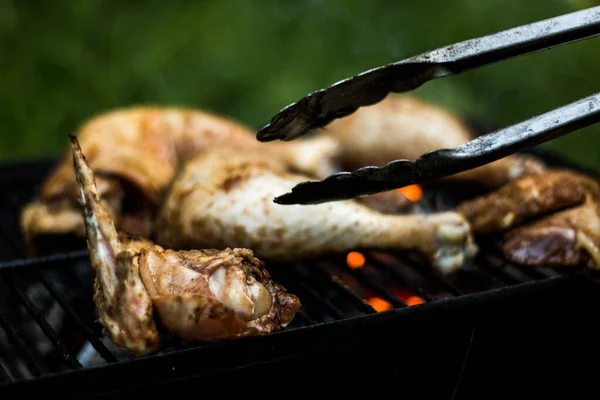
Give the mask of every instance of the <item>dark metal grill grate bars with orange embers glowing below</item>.
M 19 209 L 37 191 L 51 162 L 0 169 L 0 190 L 7 194 L 0 200 L 0 384 L 131 359 L 101 335 L 87 251 L 24 258 Z M 467 189 L 459 192 L 468 194 Z M 456 185 L 452 192 L 443 186 L 426 190 L 421 207 L 451 208 L 460 200 L 452 193 Z M 268 267 L 304 305 L 287 331 L 559 275 L 553 269 L 507 264 L 493 241 L 480 248 L 472 264 L 449 277 L 405 254 L 361 249 L 361 268 L 349 268 L 346 255 Z M 174 343 L 164 353 L 186 347 Z

